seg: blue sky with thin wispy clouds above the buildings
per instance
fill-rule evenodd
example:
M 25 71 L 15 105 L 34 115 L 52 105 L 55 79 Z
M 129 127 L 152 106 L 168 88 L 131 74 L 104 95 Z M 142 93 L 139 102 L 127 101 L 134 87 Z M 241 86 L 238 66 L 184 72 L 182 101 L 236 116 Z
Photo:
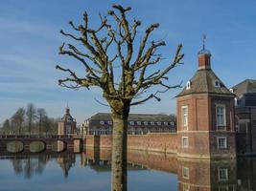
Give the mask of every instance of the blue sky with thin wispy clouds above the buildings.
M 9 0 L 0 2 L 0 123 L 12 117 L 18 107 L 33 102 L 45 108 L 48 116 L 61 117 L 68 104 L 73 117 L 81 123 L 109 108 L 98 89 L 73 91 L 58 86 L 66 76 L 57 71 L 61 64 L 82 74 L 81 64 L 59 55 L 58 47 L 69 39 L 61 29 L 71 32 L 68 21 L 82 23 L 87 11 L 89 25 L 99 25 L 113 3 L 130 6 L 128 18 L 142 21 L 138 39 L 151 23 L 160 23 L 152 38 L 164 39 L 160 49 L 165 62 L 172 60 L 176 46 L 183 44 L 183 65 L 170 72 L 170 84 L 186 84 L 198 69 L 202 34 L 212 53 L 212 69 L 230 88 L 247 78 L 256 78 L 256 2 L 254 0 Z M 181 89 L 161 95 L 131 108 L 131 113 L 173 114 L 175 96 Z

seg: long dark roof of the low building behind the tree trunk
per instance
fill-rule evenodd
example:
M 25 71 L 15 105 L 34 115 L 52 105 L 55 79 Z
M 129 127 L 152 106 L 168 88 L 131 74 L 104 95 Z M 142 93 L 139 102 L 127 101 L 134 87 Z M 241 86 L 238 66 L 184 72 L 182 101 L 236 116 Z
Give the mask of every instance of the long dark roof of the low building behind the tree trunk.
M 129 114 L 128 120 L 141 120 L 141 121 L 173 121 L 173 117 L 168 115 L 153 115 L 153 114 Z M 110 113 L 98 113 L 90 118 L 89 120 L 111 120 Z

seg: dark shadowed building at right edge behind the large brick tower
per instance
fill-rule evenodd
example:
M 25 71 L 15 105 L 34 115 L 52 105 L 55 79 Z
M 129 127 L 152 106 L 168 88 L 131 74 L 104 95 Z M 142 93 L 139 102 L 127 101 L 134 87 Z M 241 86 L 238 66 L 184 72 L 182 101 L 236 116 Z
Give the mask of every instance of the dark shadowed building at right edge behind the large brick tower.
M 231 91 L 236 95 L 238 152 L 256 154 L 256 80 L 246 79 Z

